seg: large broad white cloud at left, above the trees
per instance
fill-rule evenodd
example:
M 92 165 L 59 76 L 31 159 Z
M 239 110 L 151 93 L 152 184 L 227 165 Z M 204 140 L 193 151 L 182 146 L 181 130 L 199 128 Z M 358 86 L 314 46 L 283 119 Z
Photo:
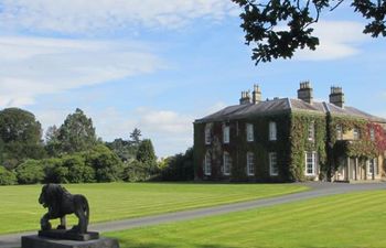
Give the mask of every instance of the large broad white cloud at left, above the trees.
M 135 43 L 0 36 L 0 108 L 163 68 Z

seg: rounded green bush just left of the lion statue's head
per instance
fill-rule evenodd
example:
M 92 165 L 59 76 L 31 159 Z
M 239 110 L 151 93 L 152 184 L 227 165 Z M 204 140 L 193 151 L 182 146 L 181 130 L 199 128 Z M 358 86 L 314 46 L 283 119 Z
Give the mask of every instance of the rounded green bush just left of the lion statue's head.
M 41 183 L 45 177 L 42 162 L 39 160 L 26 160 L 15 171 L 20 184 Z

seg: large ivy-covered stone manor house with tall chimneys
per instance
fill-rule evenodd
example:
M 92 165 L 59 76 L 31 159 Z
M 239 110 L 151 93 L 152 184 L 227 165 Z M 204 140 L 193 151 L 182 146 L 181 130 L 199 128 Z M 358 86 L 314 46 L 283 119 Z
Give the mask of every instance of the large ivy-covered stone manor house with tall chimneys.
M 196 180 L 368 181 L 385 176 L 386 119 L 344 105 L 341 87 L 315 101 L 309 82 L 298 99 L 262 100 L 259 86 L 239 105 L 194 121 Z

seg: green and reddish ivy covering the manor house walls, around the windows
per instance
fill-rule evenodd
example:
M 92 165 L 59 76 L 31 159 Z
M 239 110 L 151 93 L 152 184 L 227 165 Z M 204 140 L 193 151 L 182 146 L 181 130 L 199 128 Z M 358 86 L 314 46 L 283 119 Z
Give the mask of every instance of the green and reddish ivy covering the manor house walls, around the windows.
M 277 140 L 269 141 L 269 122 L 277 123 Z M 246 125 L 254 125 L 254 141 L 246 139 Z M 269 116 L 255 116 L 211 123 L 212 143 L 205 144 L 205 125 L 194 123 L 194 164 L 196 179 L 218 181 L 296 182 L 329 180 L 337 170 L 340 157 L 376 158 L 386 150 L 386 131 L 380 125 L 346 116 L 331 116 L 311 111 L 283 111 Z M 223 126 L 230 128 L 230 142 L 223 143 Z M 314 126 L 314 139 L 309 140 L 310 126 Z M 343 133 L 356 128 L 361 139 L 337 140 L 336 126 Z M 369 130 L 375 131 L 375 141 Z M 232 157 L 230 175 L 223 174 L 223 154 Z M 205 176 L 205 153 L 212 157 L 212 174 Z M 247 175 L 247 152 L 255 155 L 255 175 Z M 269 175 L 269 152 L 277 152 L 278 176 Z M 317 152 L 315 176 L 305 176 L 305 152 Z

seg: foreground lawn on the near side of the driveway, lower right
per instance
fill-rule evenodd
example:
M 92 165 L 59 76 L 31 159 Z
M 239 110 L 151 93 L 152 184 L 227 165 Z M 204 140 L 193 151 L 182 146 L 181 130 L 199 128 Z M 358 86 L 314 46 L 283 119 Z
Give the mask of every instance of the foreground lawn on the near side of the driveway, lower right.
M 121 248 L 384 248 L 385 234 L 386 192 L 374 191 L 107 235 Z

